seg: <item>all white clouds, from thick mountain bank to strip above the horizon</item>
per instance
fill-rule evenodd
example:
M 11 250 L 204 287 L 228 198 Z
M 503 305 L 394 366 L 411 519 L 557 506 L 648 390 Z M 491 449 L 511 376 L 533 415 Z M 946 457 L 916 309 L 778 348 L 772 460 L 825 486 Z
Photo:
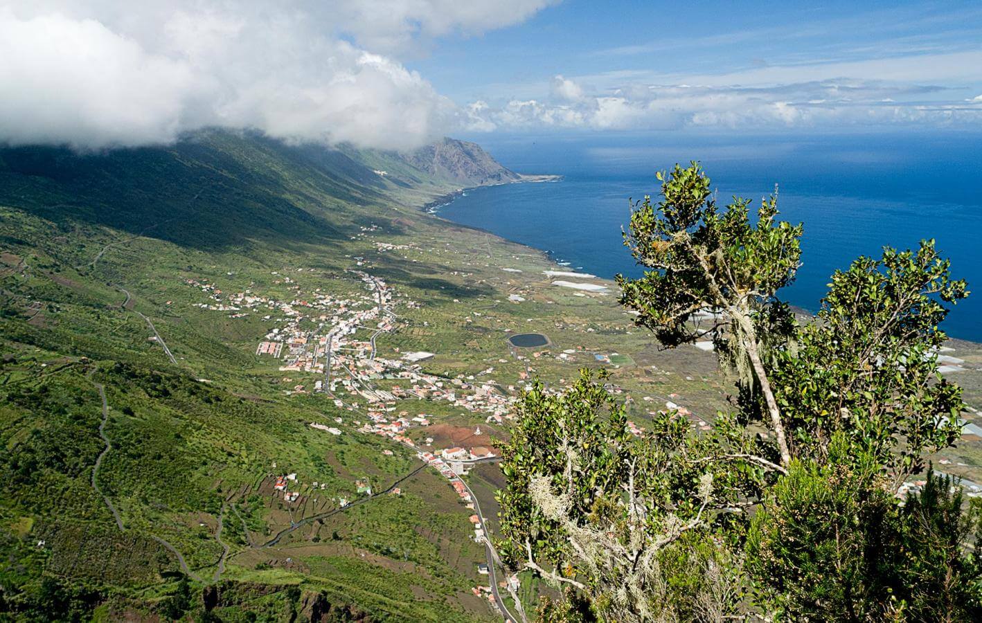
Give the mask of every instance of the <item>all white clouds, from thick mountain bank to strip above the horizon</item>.
M 760 59 L 730 71 L 698 65 L 721 67 L 716 74 L 613 69 L 625 57 L 685 43 L 659 41 L 594 52 L 609 59 L 606 73 L 572 76 L 575 68 L 567 67 L 552 79 L 489 85 L 484 92 L 493 95 L 472 102 L 451 101 L 400 61 L 438 37 L 516 25 L 557 1 L 6 0 L 0 143 L 99 149 L 225 127 L 296 142 L 408 149 L 462 130 L 824 130 L 982 121 L 977 46 L 912 52 L 900 40 L 887 46 L 894 56 L 846 50 L 840 60 L 798 54 L 784 64 Z M 760 34 L 695 43 L 722 46 L 724 54 Z M 568 61 L 574 66 L 577 57 Z

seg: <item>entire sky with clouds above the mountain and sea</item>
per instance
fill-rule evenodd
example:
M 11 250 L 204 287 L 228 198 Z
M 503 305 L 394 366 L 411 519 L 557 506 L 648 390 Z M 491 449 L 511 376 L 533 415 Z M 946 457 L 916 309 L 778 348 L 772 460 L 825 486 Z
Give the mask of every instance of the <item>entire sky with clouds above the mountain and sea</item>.
M 978 130 L 982 4 L 0 0 L 0 142 Z

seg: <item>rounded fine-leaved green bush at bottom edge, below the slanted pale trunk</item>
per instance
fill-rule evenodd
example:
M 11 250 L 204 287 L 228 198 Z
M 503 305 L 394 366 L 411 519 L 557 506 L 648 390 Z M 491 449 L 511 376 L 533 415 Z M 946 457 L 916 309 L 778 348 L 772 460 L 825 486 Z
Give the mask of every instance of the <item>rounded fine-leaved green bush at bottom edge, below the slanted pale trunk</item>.
M 791 463 L 753 517 L 747 567 L 767 610 L 797 621 L 880 621 L 897 613 L 889 566 L 897 508 L 874 456 Z

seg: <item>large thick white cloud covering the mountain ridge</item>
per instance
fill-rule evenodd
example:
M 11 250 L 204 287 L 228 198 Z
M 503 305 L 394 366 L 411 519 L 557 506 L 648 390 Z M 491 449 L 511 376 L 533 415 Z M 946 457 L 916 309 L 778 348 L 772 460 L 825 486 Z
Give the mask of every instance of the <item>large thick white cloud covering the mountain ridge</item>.
M 13 0 L 0 8 L 0 142 L 99 148 L 223 126 L 412 147 L 469 114 L 391 55 L 549 3 Z

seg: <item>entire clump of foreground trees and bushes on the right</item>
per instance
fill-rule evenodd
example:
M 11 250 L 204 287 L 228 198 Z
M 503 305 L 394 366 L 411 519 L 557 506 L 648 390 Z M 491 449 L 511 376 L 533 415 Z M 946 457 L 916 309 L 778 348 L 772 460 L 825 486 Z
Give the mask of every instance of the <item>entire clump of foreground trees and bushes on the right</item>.
M 619 279 L 622 302 L 663 343 L 712 339 L 736 408 L 701 433 L 668 410 L 635 437 L 604 376 L 523 394 L 501 550 L 566 590 L 540 618 L 977 620 L 982 505 L 931 471 L 901 487 L 960 434 L 961 390 L 937 370 L 964 282 L 931 241 L 888 248 L 799 324 L 777 291 L 802 230 L 776 197 L 751 223 L 695 163 L 659 179 L 627 235 L 648 271 Z

